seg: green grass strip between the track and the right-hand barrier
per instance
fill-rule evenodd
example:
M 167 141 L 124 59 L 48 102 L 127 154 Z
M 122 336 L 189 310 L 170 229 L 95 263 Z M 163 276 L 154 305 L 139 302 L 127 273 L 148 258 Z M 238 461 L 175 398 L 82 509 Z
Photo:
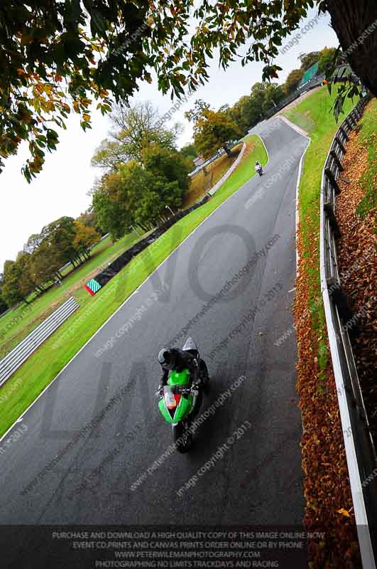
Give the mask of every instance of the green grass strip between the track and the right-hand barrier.
M 346 100 L 344 105 L 346 115 L 344 117 L 342 115 L 339 124 L 337 124 L 330 110 L 334 95 L 335 92 L 333 92 L 332 97 L 329 97 L 327 87 L 322 87 L 303 100 L 297 107 L 293 107 L 284 113 L 290 121 L 305 129 L 312 139 L 307 148 L 302 169 L 299 211 L 303 255 L 307 260 L 310 260 L 305 264 L 309 285 L 309 307 L 312 326 L 318 338 L 318 363 L 321 371 L 326 368 L 328 358 L 319 276 L 319 199 L 322 169 L 340 122 L 357 102 L 356 100 L 354 102 Z

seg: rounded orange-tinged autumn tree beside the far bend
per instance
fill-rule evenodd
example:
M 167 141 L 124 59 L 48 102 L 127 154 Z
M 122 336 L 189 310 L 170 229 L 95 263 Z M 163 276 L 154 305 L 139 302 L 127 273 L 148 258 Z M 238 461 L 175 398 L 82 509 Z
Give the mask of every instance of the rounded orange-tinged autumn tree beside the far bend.
M 204 109 L 194 125 L 195 148 L 204 158 L 212 156 L 220 148 L 229 157 L 233 156 L 228 147 L 229 142 L 240 136 L 239 127 L 227 112 Z

